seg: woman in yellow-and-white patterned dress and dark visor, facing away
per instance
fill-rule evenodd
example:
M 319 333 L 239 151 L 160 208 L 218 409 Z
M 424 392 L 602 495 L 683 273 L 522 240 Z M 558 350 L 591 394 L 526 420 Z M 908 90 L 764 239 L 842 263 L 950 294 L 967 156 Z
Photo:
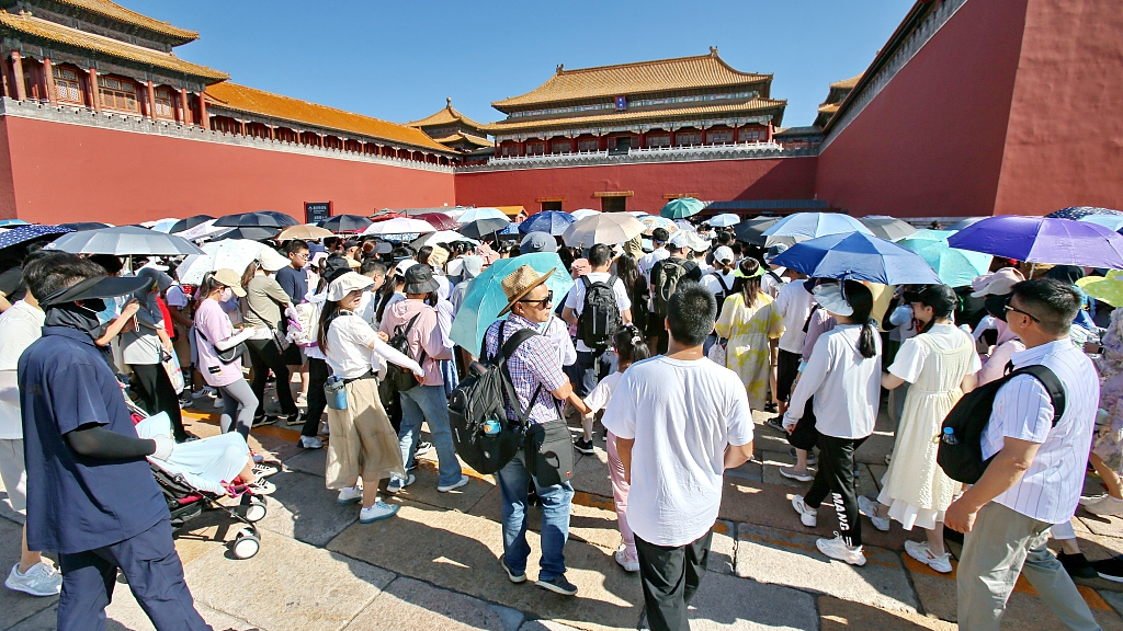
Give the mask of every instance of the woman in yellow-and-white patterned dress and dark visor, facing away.
M 725 338 L 725 367 L 736 372 L 749 395 L 749 406 L 764 410 L 769 373 L 784 318 L 770 295 L 760 290 L 765 268 L 755 258 L 742 258 L 733 276 L 733 293 L 718 318 L 718 336 Z

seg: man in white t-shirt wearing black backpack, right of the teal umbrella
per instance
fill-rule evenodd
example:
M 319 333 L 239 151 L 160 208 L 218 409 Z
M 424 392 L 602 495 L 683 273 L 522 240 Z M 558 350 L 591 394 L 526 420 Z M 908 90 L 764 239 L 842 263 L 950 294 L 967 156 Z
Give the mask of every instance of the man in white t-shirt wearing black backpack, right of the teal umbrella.
M 565 299 L 565 309 L 562 311 L 562 319 L 570 324 L 577 324 L 581 319 L 581 314 L 585 308 L 585 281 L 588 284 L 594 283 L 609 283 L 612 281 L 613 276 L 609 272 L 612 265 L 612 250 L 609 246 L 604 244 L 596 244 L 588 250 L 588 265 L 592 267 L 592 272 L 585 274 L 577 280 L 575 284 Z M 628 296 L 628 290 L 624 287 L 624 282 L 620 278 L 615 278 L 612 282 L 612 293 L 617 298 L 617 309 L 620 311 L 620 321 L 623 324 L 631 322 L 631 299 Z M 606 331 L 605 339 L 611 346 L 612 335 L 615 331 Z M 577 339 L 577 374 L 574 376 L 579 376 L 581 378 L 574 379 L 573 390 L 577 393 L 577 396 L 585 396 L 593 388 L 596 387 L 596 382 L 604 378 L 609 374 L 610 358 L 604 357 L 608 350 L 606 347 L 602 348 L 591 348 L 585 340 L 581 339 L 578 332 Z M 575 447 L 582 454 L 593 452 L 593 419 L 588 417 L 582 421 L 584 428 L 584 435 L 581 440 L 574 442 Z

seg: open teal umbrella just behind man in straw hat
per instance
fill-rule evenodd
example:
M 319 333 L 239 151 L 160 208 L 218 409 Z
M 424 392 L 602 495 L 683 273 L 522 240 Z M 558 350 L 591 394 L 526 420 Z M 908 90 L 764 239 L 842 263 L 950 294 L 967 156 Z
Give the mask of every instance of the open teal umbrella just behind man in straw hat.
M 506 307 L 506 294 L 501 283 L 511 272 L 522 265 L 529 265 L 539 273 L 550 269 L 554 273 L 546 281 L 546 286 L 554 292 L 554 302 L 565 300 L 566 293 L 573 286 L 573 278 L 566 271 L 562 258 L 554 253 L 524 254 L 515 258 L 501 258 L 491 264 L 487 269 L 468 283 L 456 320 L 453 321 L 450 337 L 453 341 L 480 356 L 484 333 L 487 327 L 499 320 L 499 312 Z

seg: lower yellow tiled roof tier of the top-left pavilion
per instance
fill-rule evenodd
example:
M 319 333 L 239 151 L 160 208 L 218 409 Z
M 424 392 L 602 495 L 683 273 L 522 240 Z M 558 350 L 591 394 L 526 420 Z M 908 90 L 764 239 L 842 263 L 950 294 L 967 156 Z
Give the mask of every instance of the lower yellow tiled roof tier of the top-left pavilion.
M 202 76 L 221 81 L 230 75 L 222 71 L 209 68 L 191 62 L 185 62 L 172 53 L 163 53 L 144 46 L 126 44 L 111 37 L 102 37 L 84 30 L 77 30 L 67 26 L 62 26 L 52 21 L 39 19 L 29 15 L 15 16 L 7 11 L 0 11 L 0 27 L 10 28 L 17 33 L 31 37 L 49 39 L 57 44 L 65 44 L 76 48 L 84 48 L 95 53 L 112 57 L 121 57 L 131 62 L 148 64 L 164 70 L 182 72 L 193 76 Z

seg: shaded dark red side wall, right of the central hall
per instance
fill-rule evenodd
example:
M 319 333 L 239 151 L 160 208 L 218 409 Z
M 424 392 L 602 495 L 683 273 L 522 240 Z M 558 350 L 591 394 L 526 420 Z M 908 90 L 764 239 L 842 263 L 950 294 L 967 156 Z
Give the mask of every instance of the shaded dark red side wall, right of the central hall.
M 1025 6 L 968 0 L 820 153 L 819 198 L 858 217 L 992 214 Z M 1048 125 L 1062 145 L 1067 120 Z

